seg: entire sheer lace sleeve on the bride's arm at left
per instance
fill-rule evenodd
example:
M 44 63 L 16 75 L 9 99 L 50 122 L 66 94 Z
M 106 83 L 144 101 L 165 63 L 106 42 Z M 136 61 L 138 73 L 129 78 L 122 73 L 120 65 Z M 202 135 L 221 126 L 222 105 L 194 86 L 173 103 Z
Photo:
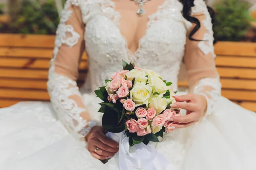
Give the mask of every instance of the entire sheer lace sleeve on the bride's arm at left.
M 79 3 L 67 0 L 56 32 L 47 87 L 58 118 L 78 137 L 86 136 L 90 128 L 96 125 L 87 113 L 76 85 L 79 62 L 84 51 L 83 35 L 84 24 Z

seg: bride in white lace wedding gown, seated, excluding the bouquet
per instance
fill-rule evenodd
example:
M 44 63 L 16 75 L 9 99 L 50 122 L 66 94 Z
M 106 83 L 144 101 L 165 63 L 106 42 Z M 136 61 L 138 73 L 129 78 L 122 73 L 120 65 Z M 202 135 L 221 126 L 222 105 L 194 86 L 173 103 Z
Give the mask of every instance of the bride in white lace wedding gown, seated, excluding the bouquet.
M 189 93 L 177 93 L 172 104 L 183 116 L 153 143 L 172 164 L 167 170 L 256 169 L 256 114 L 221 96 L 210 8 L 203 0 L 134 1 L 67 0 L 49 69 L 51 103 L 0 109 L 1 170 L 124 170 L 93 94 L 122 69 L 122 59 L 157 71 L 175 91 L 186 66 Z M 79 89 L 83 51 L 89 71 Z

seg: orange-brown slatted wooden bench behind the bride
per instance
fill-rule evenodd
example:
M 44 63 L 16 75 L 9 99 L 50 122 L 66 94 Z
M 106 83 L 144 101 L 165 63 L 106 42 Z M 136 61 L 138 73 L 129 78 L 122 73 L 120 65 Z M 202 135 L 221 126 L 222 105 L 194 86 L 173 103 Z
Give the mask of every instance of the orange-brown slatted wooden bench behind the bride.
M 49 101 L 47 72 L 54 36 L 0 34 L 0 108 L 20 101 Z M 216 66 L 222 95 L 256 111 L 256 43 L 218 42 Z M 79 85 L 87 70 L 84 54 Z M 186 82 L 179 82 L 186 86 Z

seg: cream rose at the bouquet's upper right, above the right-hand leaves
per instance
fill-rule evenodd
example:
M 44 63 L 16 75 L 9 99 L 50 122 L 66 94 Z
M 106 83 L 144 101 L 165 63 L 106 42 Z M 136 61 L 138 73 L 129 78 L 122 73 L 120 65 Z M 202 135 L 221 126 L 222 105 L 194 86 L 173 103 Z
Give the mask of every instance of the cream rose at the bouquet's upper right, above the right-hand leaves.
M 168 90 L 165 82 L 163 82 L 163 80 L 157 76 L 149 77 L 148 84 L 152 87 L 153 93 L 158 92 L 160 94 L 165 94 L 166 91 Z

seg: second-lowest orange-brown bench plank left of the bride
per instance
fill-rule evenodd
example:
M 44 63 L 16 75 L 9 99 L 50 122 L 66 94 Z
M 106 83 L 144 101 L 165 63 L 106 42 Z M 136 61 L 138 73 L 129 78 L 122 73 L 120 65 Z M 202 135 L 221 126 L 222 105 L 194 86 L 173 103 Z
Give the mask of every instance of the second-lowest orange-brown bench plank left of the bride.
M 47 91 L 0 88 L 0 98 L 49 100 Z

